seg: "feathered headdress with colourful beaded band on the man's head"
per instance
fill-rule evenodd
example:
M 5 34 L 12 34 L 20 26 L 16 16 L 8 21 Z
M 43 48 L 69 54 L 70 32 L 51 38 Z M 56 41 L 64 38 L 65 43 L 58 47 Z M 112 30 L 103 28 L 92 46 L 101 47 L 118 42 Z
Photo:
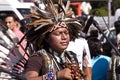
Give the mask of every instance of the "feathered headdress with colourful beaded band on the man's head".
M 71 40 L 78 38 L 78 33 L 81 31 L 82 26 L 77 19 L 72 18 L 74 12 L 72 8 L 69 7 L 69 0 L 66 6 L 62 0 L 59 0 L 58 4 L 54 4 L 52 0 L 39 0 L 34 3 L 35 6 L 31 7 L 31 14 L 25 17 L 32 18 L 32 21 L 27 24 L 28 28 L 32 28 L 28 32 L 27 40 L 35 46 L 37 45 L 37 49 L 40 48 L 46 34 L 59 27 L 56 26 L 58 23 L 62 27 L 68 27 Z

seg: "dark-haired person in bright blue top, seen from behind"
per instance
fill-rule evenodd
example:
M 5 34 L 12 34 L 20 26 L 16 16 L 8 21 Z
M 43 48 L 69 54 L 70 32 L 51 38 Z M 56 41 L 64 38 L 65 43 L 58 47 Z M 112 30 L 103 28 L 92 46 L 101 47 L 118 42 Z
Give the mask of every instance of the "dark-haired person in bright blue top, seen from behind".
M 90 38 L 88 44 L 92 58 L 92 80 L 107 80 L 107 71 L 111 58 L 103 55 L 101 41 L 97 38 Z

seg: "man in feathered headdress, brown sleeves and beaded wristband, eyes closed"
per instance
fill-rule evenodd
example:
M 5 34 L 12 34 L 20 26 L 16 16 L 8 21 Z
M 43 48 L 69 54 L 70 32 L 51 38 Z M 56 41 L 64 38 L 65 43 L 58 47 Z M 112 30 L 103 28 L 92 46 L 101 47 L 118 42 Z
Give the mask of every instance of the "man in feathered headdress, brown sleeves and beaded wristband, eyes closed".
M 72 19 L 73 11 L 70 2 L 64 6 L 62 1 L 53 4 L 44 0 L 45 9 L 37 2 L 32 7 L 32 22 L 27 34 L 34 52 L 25 68 L 27 80 L 81 80 L 83 73 L 79 68 L 76 54 L 66 51 L 71 40 L 79 37 L 82 26 Z

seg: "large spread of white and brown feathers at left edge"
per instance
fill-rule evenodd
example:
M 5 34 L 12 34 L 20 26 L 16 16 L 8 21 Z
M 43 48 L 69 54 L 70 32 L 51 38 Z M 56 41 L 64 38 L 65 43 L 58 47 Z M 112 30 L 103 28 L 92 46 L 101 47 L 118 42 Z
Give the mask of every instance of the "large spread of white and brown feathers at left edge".
M 0 80 L 13 79 L 13 75 L 10 73 L 13 71 L 14 65 L 23 58 L 14 41 L 18 41 L 17 37 L 0 19 Z

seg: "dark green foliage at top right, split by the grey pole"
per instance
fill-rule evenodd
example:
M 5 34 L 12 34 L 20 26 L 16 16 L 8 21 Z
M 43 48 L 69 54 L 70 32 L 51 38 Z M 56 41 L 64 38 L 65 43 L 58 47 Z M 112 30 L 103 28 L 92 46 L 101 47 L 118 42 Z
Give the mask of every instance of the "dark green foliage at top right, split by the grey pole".
M 91 1 L 91 5 L 93 10 L 96 10 L 96 14 L 100 16 L 99 12 L 102 15 L 108 15 L 107 14 L 107 6 L 108 6 L 108 2 L 107 1 Z M 112 0 L 111 2 L 111 14 L 114 15 L 115 11 L 117 8 L 120 8 L 120 0 Z

